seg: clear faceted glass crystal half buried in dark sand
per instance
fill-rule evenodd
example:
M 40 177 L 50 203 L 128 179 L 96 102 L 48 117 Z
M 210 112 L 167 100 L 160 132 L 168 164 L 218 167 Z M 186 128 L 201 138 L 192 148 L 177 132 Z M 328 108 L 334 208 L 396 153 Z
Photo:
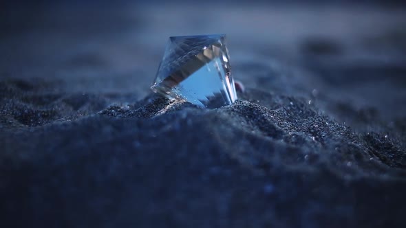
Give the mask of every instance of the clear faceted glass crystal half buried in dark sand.
M 201 107 L 233 104 L 237 94 L 225 35 L 170 37 L 151 89 Z

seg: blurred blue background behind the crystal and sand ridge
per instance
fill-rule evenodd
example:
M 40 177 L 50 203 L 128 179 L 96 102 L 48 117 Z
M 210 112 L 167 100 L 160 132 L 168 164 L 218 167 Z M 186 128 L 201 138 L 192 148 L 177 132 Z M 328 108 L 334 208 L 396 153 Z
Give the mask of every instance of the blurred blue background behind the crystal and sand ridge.
M 317 98 L 343 122 L 356 119 L 342 111 L 389 120 L 406 113 L 402 1 L 0 4 L 1 78 L 140 100 L 169 36 L 226 33 L 233 75 L 248 88 Z

